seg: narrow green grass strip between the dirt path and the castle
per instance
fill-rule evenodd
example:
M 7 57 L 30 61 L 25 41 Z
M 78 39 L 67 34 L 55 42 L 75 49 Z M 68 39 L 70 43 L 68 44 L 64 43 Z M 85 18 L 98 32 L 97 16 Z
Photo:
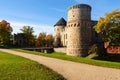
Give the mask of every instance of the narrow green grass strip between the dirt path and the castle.
M 27 50 L 21 50 L 21 49 L 13 49 L 13 50 L 25 52 L 25 53 L 29 53 L 29 54 L 41 55 L 41 56 L 52 57 L 52 58 L 59 58 L 59 59 L 63 59 L 63 60 L 69 60 L 69 61 L 80 62 L 80 63 L 86 63 L 86 64 L 91 64 L 91 65 L 96 65 L 96 66 L 120 69 L 119 62 L 94 60 L 94 59 L 82 58 L 82 57 L 73 57 L 73 56 L 67 56 L 65 53 L 58 53 L 58 52 L 46 54 L 46 53 L 27 51 Z

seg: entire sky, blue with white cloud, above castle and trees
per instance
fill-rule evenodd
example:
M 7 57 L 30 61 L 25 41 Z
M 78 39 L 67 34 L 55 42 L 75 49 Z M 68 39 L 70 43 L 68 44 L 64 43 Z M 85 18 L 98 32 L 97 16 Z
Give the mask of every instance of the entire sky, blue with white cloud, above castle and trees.
M 0 0 L 0 21 L 8 21 L 13 33 L 19 33 L 23 26 L 31 26 L 36 35 L 53 34 L 54 24 L 61 17 L 67 20 L 68 7 L 82 3 L 92 7 L 92 20 L 120 8 L 119 0 Z

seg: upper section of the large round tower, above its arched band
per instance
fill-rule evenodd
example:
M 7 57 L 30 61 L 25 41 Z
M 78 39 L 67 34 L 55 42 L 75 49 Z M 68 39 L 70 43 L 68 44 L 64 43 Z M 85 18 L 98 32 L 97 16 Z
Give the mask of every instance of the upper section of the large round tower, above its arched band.
M 78 4 L 68 9 L 68 22 L 91 20 L 91 7 L 87 4 Z

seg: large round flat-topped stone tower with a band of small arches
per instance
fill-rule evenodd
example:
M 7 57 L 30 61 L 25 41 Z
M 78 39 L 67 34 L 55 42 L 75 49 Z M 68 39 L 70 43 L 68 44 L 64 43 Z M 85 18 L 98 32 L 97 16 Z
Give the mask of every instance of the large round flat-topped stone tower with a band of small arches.
M 78 4 L 68 9 L 67 55 L 86 56 L 91 44 L 91 7 Z

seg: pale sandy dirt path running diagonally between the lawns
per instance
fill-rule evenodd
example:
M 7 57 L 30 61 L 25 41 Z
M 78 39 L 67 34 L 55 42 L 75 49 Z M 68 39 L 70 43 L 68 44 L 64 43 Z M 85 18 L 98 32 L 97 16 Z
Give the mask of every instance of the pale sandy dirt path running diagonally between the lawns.
M 23 52 L 16 52 L 8 49 L 0 49 L 0 51 L 23 56 L 46 65 L 54 71 L 62 74 L 68 80 L 120 80 L 120 69 L 98 67 L 33 54 L 26 54 Z

